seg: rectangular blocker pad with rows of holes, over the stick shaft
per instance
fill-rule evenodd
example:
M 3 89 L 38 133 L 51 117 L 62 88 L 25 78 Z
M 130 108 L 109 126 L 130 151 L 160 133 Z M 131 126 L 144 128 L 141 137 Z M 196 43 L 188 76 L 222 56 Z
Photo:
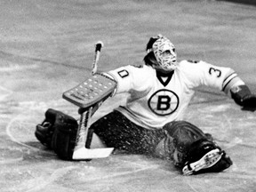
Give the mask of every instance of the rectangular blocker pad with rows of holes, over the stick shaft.
M 101 74 L 86 79 L 83 83 L 64 92 L 62 97 L 79 108 L 89 108 L 108 98 L 116 89 L 116 81 Z

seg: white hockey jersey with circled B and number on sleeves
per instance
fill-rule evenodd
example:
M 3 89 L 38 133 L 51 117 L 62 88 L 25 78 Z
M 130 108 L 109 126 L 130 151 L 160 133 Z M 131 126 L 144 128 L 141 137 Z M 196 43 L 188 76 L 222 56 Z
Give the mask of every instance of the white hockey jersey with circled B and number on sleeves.
M 116 110 L 148 129 L 162 128 L 166 123 L 182 120 L 194 89 L 200 85 L 228 94 L 232 86 L 244 84 L 233 69 L 204 61 L 182 60 L 178 68 L 167 76 L 147 65 L 116 68 L 108 75 L 117 82 L 115 94 L 130 93 L 126 105 Z

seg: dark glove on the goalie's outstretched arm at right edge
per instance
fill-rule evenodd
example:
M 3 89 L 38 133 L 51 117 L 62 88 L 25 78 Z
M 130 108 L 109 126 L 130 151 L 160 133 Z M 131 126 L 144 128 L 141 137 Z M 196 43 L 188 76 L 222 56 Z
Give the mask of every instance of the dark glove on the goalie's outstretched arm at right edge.
M 231 97 L 236 104 L 242 106 L 242 110 L 255 111 L 256 110 L 256 95 L 252 94 L 248 86 L 240 85 L 230 90 Z

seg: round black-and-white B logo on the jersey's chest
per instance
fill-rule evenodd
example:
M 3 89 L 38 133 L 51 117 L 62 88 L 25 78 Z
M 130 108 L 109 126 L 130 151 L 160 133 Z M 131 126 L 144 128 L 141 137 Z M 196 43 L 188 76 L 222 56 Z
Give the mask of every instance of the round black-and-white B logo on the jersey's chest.
M 170 90 L 159 90 L 148 100 L 148 107 L 158 116 L 172 114 L 179 107 L 179 97 Z

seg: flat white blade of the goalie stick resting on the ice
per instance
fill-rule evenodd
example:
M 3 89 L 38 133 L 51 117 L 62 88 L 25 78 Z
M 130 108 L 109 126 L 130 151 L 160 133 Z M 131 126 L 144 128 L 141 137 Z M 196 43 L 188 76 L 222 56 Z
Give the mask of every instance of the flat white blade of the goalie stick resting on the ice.
M 73 160 L 105 158 L 111 155 L 114 148 L 78 148 L 73 153 Z

